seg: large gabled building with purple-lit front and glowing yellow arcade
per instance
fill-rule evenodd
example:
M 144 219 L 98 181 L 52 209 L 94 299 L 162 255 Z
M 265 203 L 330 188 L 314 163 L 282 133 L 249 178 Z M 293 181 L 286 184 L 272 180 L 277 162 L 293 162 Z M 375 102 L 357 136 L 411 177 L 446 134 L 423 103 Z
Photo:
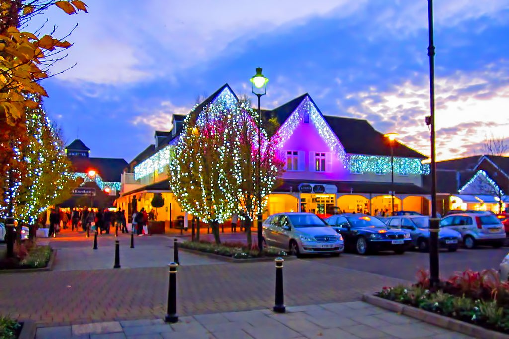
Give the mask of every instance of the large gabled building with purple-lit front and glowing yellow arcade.
M 197 105 L 189 114 L 200 114 L 218 100 L 238 100 L 228 84 Z M 391 146 L 382 132 L 367 120 L 324 115 L 308 94 L 303 94 L 272 110 L 262 110 L 267 122 L 276 118 L 275 132 L 280 140 L 278 154 L 286 164 L 268 197 L 268 212 L 310 211 L 327 214 L 333 207 L 345 212 L 415 210 L 430 211 L 430 194 L 423 188 L 423 177 L 429 173 L 426 159 L 414 149 L 395 142 L 393 145 L 394 184 L 391 183 Z M 178 140 L 185 116 L 174 114 L 172 129 L 164 134 L 156 131 L 155 147 L 147 148 L 145 158 L 124 173 L 123 189 L 118 204 L 128 208 L 150 210 L 155 193 L 165 198 L 161 220 L 175 220 L 185 213 L 169 188 L 167 171 L 170 149 Z M 149 150 L 150 149 L 150 150 Z M 131 162 L 133 163 L 133 162 Z M 267 215 L 265 215 L 266 217 Z

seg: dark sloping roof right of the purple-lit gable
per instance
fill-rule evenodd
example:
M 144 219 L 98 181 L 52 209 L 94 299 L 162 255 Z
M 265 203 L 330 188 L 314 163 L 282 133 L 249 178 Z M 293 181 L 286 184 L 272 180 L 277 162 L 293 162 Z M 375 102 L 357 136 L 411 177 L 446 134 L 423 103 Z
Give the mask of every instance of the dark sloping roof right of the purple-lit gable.
M 391 147 L 383 133 L 375 130 L 365 119 L 324 115 L 325 121 L 340 139 L 345 151 L 351 154 L 389 156 Z M 394 157 L 426 159 L 416 150 L 399 142 L 394 143 Z

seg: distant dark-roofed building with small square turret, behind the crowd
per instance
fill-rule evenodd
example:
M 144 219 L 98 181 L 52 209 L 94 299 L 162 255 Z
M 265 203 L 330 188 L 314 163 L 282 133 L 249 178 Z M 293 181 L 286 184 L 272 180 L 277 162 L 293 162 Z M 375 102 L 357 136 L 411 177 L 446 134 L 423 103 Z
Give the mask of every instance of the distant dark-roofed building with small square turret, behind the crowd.
M 91 158 L 90 148 L 76 139 L 65 147 L 72 163 L 73 176 L 83 178 L 80 187 L 73 190 L 72 198 L 59 207 L 111 207 L 120 194 L 120 177 L 127 169 L 124 159 Z

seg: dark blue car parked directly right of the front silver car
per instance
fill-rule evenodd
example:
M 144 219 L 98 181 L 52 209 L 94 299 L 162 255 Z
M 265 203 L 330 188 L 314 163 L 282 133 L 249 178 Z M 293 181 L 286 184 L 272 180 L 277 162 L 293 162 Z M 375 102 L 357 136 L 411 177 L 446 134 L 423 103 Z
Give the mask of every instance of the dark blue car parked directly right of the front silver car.
M 326 220 L 332 228 L 343 235 L 345 249 L 358 254 L 376 251 L 394 251 L 403 254 L 410 246 L 410 234 L 391 230 L 379 219 L 365 214 L 333 215 Z

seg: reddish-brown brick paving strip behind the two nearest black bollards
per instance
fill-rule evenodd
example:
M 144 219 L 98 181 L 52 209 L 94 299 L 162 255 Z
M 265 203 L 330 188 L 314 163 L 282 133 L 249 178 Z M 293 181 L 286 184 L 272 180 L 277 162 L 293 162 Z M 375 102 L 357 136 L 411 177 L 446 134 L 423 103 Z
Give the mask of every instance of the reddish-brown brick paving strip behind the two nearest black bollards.
M 354 301 L 400 280 L 341 267 L 285 263 L 287 305 Z M 274 302 L 273 262 L 186 266 L 178 273 L 181 315 L 263 309 Z M 0 310 L 39 324 L 160 318 L 165 314 L 167 268 L 3 274 Z

